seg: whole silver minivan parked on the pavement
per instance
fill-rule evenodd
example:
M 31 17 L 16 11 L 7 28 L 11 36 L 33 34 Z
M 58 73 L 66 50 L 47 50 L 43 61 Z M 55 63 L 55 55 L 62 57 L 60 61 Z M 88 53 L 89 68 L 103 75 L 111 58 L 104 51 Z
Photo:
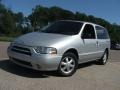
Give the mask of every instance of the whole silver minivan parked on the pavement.
M 107 30 L 97 24 L 61 20 L 15 39 L 8 47 L 14 63 L 40 71 L 75 73 L 78 64 L 97 60 L 104 65 L 110 50 Z

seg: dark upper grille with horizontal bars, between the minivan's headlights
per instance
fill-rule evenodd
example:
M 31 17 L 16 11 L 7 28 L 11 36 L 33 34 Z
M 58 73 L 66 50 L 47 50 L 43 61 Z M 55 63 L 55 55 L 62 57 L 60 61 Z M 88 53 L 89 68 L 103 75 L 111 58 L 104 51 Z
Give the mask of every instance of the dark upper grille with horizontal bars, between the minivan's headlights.
M 17 52 L 17 53 L 21 53 L 21 54 L 25 54 L 25 55 L 31 55 L 31 51 L 29 48 L 26 47 L 22 47 L 22 46 L 12 46 L 11 48 L 12 51 Z

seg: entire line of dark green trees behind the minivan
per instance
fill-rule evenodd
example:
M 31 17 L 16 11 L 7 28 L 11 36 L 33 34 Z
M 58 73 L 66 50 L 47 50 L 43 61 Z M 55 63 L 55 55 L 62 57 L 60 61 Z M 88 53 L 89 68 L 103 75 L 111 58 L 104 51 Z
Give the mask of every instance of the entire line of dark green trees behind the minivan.
M 18 36 L 41 28 L 50 22 L 57 20 L 78 20 L 89 21 L 104 26 L 108 29 L 110 38 L 114 42 L 120 43 L 120 25 L 98 18 L 85 13 L 73 13 L 69 10 L 60 7 L 43 7 L 37 5 L 28 17 L 25 17 L 22 12 L 14 13 L 3 5 L 0 0 L 0 34 L 5 36 Z

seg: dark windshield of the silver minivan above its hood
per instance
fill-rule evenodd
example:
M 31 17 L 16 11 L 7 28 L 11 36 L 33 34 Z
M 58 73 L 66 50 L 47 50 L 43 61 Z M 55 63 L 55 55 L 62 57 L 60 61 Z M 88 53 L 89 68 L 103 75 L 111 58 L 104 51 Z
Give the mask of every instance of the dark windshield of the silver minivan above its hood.
M 58 21 L 43 28 L 41 32 L 64 35 L 76 35 L 80 32 L 83 23 L 72 21 Z

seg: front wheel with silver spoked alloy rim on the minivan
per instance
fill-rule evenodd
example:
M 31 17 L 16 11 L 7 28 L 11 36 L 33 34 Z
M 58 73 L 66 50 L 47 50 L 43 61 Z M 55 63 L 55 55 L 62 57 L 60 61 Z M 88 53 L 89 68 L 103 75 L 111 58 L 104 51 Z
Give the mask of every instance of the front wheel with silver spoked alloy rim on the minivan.
M 58 72 L 64 77 L 72 76 L 76 72 L 77 66 L 77 57 L 73 53 L 68 52 L 63 55 L 58 67 Z

